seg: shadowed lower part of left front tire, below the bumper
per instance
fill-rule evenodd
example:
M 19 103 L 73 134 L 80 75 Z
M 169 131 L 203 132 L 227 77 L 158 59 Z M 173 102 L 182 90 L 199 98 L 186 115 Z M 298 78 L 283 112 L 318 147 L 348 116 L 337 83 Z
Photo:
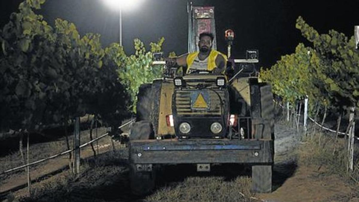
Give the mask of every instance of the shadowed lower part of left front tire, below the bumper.
M 136 165 L 130 165 L 130 187 L 131 192 L 137 196 L 150 193 L 155 187 L 155 171 L 139 172 Z

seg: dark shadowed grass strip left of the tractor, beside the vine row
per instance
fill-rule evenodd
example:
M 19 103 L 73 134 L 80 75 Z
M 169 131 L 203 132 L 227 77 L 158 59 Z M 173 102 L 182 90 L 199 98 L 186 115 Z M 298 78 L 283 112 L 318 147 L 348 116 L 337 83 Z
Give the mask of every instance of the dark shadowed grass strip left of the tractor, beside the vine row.
M 126 151 L 107 152 L 98 157 L 91 157 L 81 163 L 80 174 L 72 174 L 69 170 L 54 175 L 32 186 L 32 196 L 26 190 L 17 193 L 19 201 L 32 202 L 65 202 L 65 201 L 103 201 L 112 200 L 121 195 L 126 169 L 123 159 Z M 119 195 L 117 195 L 119 194 Z

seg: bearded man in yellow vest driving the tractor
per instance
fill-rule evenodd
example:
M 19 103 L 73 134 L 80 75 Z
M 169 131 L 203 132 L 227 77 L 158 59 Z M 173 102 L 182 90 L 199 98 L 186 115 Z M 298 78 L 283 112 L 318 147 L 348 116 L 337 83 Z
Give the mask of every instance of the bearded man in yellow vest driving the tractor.
M 200 34 L 198 46 L 200 51 L 183 54 L 177 58 L 167 58 L 167 64 L 171 67 L 182 66 L 186 74 L 199 71 L 214 74 L 224 73 L 227 56 L 219 51 L 212 50 L 213 35 L 209 32 Z

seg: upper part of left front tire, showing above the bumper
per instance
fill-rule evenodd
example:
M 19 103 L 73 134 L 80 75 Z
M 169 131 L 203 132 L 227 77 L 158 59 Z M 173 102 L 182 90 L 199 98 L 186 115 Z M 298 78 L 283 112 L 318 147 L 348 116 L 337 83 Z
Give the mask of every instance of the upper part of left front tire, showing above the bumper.
M 138 139 L 154 139 L 152 124 L 149 121 L 138 121 L 130 129 L 130 141 Z

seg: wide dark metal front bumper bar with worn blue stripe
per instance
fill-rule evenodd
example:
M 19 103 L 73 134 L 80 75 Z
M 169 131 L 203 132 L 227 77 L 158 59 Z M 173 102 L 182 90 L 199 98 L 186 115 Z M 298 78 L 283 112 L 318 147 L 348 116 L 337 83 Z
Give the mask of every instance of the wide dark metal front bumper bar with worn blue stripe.
M 134 164 L 270 164 L 274 160 L 272 140 L 146 140 L 131 141 L 129 146 Z

